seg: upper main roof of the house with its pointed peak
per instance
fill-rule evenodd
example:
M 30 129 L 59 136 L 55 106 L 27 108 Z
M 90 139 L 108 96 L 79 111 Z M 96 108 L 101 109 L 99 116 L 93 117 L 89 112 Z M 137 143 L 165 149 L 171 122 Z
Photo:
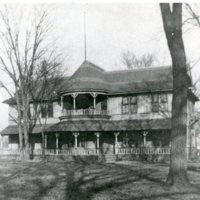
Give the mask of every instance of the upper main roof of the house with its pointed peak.
M 85 61 L 60 92 L 86 90 L 104 90 L 109 94 L 172 90 L 172 69 L 163 66 L 106 72 Z

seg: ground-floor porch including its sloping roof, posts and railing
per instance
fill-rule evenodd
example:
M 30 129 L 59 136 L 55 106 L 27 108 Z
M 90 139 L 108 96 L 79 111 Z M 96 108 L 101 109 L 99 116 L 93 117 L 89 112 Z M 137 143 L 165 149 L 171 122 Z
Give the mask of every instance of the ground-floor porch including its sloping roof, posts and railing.
M 18 152 L 17 132 L 17 126 L 2 131 L 14 153 Z M 30 151 L 39 155 L 44 144 L 46 155 L 169 154 L 169 140 L 170 119 L 69 120 L 49 124 L 43 139 L 41 127 L 36 126 L 30 135 Z

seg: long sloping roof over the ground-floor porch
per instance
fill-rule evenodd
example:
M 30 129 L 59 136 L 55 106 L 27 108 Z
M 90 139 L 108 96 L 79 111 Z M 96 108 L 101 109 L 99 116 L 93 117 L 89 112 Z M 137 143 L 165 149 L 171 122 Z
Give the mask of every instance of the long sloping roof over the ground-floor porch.
M 79 120 L 59 122 L 47 129 L 48 132 L 79 131 L 129 131 L 171 129 L 171 119 L 152 120 Z

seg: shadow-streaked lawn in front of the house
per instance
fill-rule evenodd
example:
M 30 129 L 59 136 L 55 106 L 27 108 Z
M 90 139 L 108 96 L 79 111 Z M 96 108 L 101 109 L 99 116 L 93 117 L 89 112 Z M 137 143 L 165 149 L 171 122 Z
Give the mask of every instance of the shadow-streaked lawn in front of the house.
M 189 177 L 200 187 L 200 164 Z M 141 162 L 5 162 L 0 164 L 1 200 L 199 200 L 198 192 L 164 186 L 168 167 Z

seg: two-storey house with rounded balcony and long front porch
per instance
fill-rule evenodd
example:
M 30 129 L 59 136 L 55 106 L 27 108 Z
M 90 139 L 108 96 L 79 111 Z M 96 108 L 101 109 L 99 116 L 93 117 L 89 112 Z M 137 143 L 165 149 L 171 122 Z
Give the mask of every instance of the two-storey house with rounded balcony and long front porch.
M 56 92 L 57 97 L 41 112 L 42 118 L 48 116 L 44 142 L 47 155 L 170 153 L 170 66 L 108 72 L 84 61 Z M 197 97 L 189 90 L 188 116 L 195 101 Z M 9 139 L 8 149 L 16 153 L 18 129 L 12 119 L 17 112 L 13 101 L 5 103 L 12 117 L 1 135 Z M 32 150 L 39 154 L 39 124 L 30 138 Z

